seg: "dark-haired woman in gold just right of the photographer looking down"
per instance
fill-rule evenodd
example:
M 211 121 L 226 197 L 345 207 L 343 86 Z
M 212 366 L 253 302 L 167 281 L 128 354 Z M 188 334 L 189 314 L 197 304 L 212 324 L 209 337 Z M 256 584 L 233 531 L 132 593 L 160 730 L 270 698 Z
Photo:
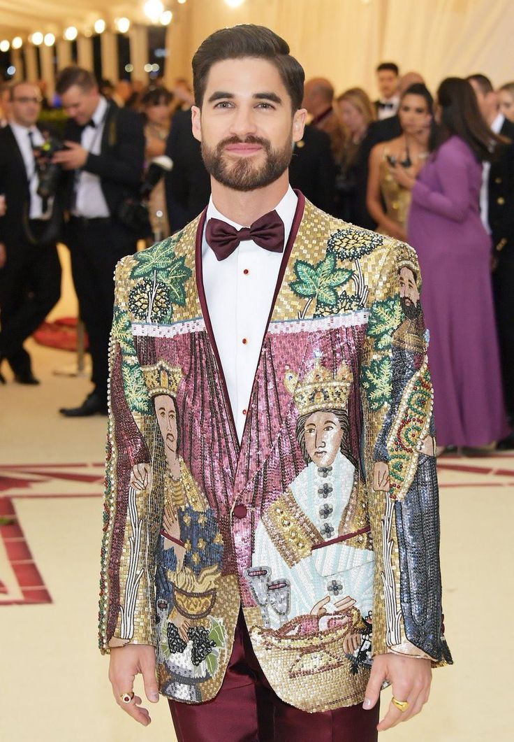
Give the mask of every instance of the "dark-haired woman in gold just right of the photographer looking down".
M 154 157 L 164 154 L 170 133 L 170 91 L 160 86 L 150 87 L 141 96 L 141 111 L 144 115 L 144 160 L 148 167 Z M 166 211 L 164 180 L 160 180 L 148 199 L 150 224 L 154 237 L 167 237 L 170 226 Z

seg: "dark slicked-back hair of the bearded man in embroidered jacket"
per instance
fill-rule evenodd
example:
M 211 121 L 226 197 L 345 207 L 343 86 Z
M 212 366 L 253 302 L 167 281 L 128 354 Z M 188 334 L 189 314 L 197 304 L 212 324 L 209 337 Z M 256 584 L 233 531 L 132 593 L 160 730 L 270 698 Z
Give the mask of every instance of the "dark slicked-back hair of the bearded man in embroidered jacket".
M 289 45 L 265 26 L 241 24 L 231 28 L 221 28 L 201 43 L 193 56 L 193 89 L 198 108 L 204 101 L 207 76 L 216 62 L 225 59 L 266 59 L 278 70 L 281 80 L 289 93 L 294 111 L 301 108 L 304 97 L 304 69 L 290 55 Z

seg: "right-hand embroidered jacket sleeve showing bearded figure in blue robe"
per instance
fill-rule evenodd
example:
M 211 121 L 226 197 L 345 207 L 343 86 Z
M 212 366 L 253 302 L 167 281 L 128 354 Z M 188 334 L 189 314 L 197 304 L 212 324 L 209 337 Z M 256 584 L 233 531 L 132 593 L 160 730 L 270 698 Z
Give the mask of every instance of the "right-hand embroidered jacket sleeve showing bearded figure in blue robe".
M 373 653 L 451 663 L 442 634 L 433 390 L 412 248 L 384 244 L 361 370 L 376 553 Z

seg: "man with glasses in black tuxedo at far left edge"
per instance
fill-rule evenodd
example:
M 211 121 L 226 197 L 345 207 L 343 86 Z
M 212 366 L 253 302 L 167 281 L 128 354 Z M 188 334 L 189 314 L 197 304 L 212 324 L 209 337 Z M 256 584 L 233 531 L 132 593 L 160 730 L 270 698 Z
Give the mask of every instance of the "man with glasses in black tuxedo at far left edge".
M 61 265 L 56 249 L 62 211 L 58 200 L 41 199 L 35 151 L 47 132 L 36 126 L 41 93 L 19 82 L 10 88 L 10 122 L 0 129 L 0 363 L 20 384 L 39 384 L 24 341 L 59 301 Z M 4 376 L 0 373 L 0 381 Z

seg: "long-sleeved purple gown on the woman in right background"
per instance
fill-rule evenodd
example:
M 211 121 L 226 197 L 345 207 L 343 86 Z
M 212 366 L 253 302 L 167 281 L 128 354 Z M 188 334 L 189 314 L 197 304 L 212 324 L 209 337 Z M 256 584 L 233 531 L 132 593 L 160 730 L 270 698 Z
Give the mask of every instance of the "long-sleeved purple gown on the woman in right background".
M 508 433 L 481 173 L 466 142 L 448 139 L 418 177 L 407 227 L 421 266 L 436 436 L 444 446 L 478 447 Z

